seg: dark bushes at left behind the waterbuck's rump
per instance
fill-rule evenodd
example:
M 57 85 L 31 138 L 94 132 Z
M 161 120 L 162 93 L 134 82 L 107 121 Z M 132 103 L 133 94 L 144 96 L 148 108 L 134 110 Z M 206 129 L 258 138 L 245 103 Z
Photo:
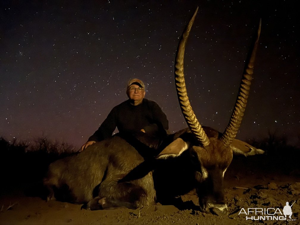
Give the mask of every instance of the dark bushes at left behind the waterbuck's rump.
M 74 153 L 73 146 L 49 141 L 47 137 L 41 137 L 34 143 L 16 140 L 10 143 L 1 137 L 0 190 L 40 185 L 51 162 Z

